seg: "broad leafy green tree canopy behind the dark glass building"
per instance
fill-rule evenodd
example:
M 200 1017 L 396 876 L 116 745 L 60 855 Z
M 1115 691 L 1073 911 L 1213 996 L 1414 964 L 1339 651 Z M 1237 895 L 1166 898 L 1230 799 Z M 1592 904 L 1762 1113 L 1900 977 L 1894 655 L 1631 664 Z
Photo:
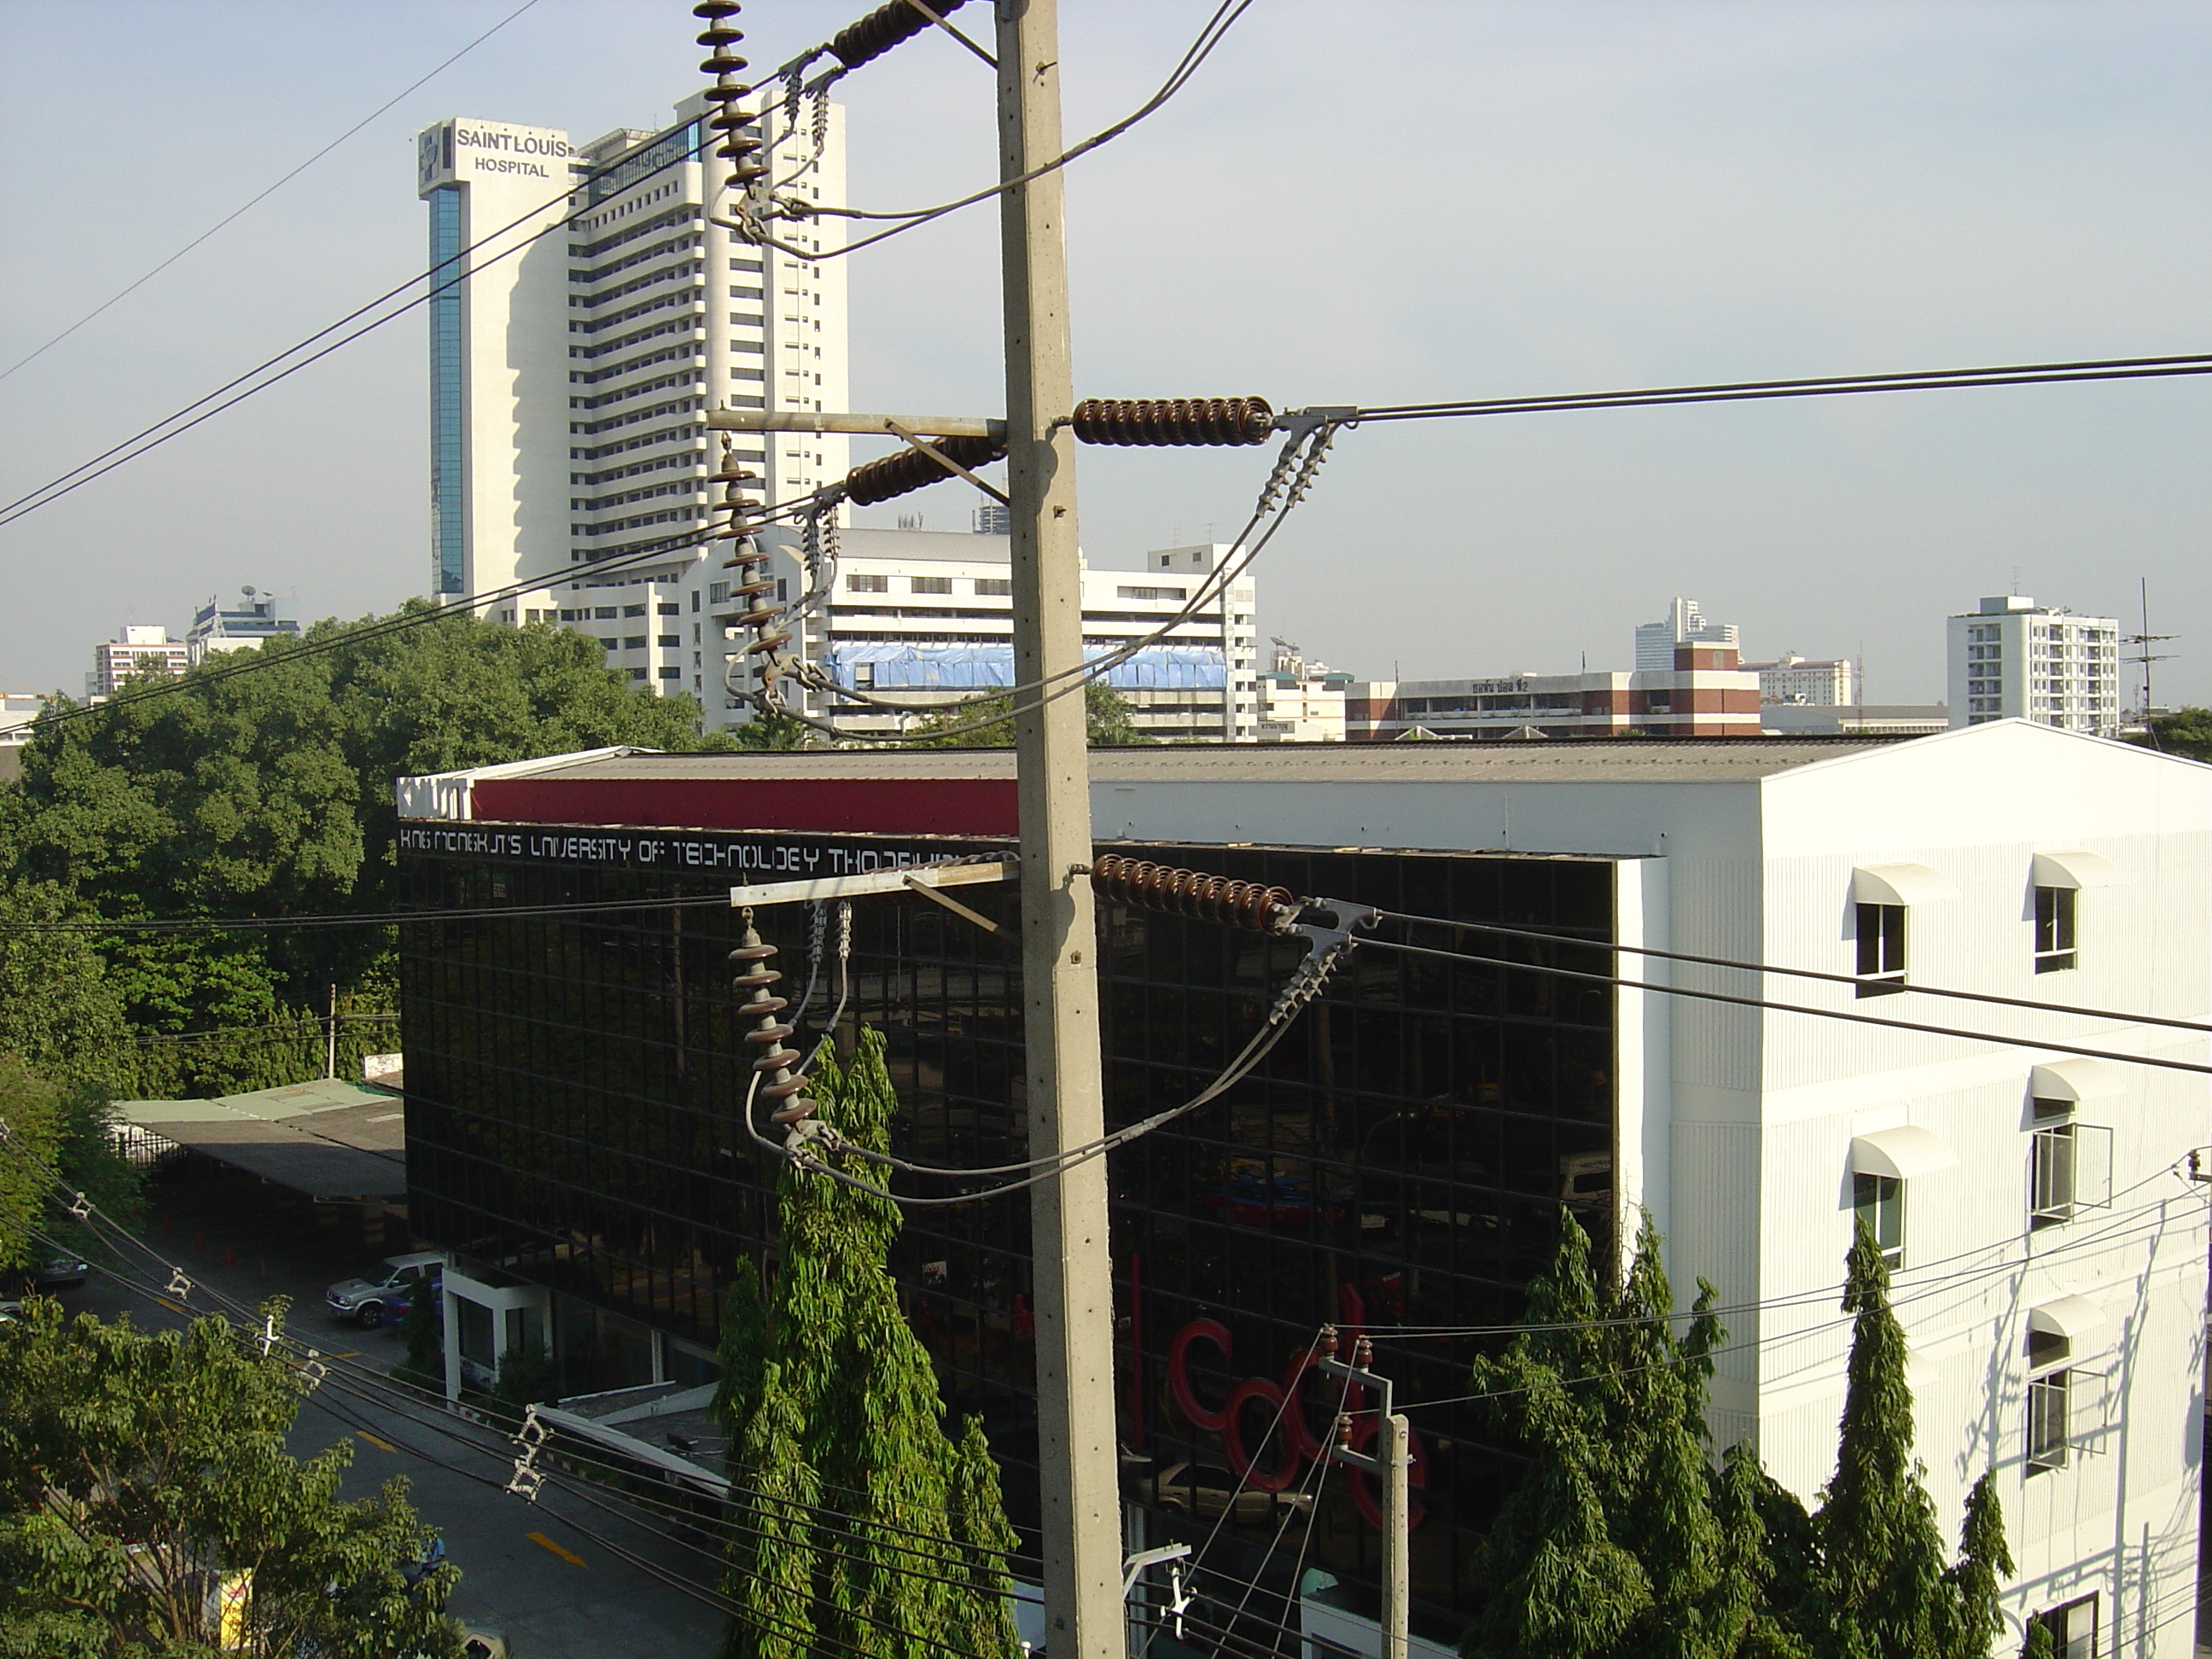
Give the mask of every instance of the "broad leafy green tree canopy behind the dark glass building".
M 630 686 L 582 635 L 418 602 L 400 619 L 325 622 L 42 719 L 0 792 L 0 925 L 394 909 L 396 776 L 706 743 L 690 697 Z M 0 933 L 0 1051 L 117 1095 L 299 1082 L 321 1071 L 330 987 L 389 1013 L 392 931 Z M 385 1035 L 341 1022 L 341 1051 Z

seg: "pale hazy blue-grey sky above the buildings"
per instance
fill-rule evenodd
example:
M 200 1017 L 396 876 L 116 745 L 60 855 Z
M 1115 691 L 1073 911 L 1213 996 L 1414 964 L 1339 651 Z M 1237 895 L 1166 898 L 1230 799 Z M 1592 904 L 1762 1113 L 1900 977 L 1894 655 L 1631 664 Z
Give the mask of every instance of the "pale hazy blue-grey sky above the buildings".
M 0 0 L 0 365 L 515 0 Z M 774 64 L 865 0 L 759 0 Z M 987 29 L 982 7 L 962 22 Z M 1064 0 L 1068 135 L 1133 108 L 1206 0 Z M 414 133 L 657 126 L 688 4 L 538 0 L 95 323 L 0 380 L 0 500 L 425 263 Z M 1068 179 L 1079 396 L 1283 405 L 1863 374 L 2212 345 L 2212 7 L 1259 0 Z M 845 84 L 856 206 L 989 181 L 947 40 Z M 995 411 L 998 228 L 852 268 L 863 409 Z M 241 584 L 389 611 L 429 571 L 420 312 L 0 531 L 0 681 L 77 692 L 126 619 Z M 1942 617 L 2006 588 L 2179 633 L 2212 701 L 2212 385 L 2013 387 L 1347 434 L 1259 571 L 1261 628 L 1360 675 L 1626 668 L 1670 595 L 1752 655 L 1942 695 Z M 1084 544 L 1228 535 L 1267 451 L 1082 451 Z M 907 502 L 964 526 L 971 491 Z M 883 509 L 887 518 L 891 509 Z

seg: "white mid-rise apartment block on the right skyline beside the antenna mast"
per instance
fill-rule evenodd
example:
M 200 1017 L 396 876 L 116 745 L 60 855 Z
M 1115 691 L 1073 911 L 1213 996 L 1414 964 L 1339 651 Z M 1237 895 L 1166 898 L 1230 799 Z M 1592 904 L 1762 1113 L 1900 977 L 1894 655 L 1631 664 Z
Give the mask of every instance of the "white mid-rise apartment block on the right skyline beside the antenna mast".
M 1944 655 L 1953 726 L 2026 719 L 2104 737 L 2119 730 L 2115 617 L 1995 595 L 1944 624 Z

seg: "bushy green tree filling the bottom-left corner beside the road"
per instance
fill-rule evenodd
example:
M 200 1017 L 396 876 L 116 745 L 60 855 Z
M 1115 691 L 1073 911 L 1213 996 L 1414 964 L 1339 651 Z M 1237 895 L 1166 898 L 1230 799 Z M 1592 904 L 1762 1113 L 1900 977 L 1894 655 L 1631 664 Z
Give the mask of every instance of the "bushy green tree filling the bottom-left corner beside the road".
M 210 1659 L 210 1590 L 246 1582 L 252 1655 L 453 1659 L 458 1573 L 400 1575 L 429 1542 L 407 1482 L 345 1502 L 349 1442 L 285 1451 L 305 1389 L 221 1318 L 148 1334 L 33 1298 L 0 1336 L 0 1655 Z

